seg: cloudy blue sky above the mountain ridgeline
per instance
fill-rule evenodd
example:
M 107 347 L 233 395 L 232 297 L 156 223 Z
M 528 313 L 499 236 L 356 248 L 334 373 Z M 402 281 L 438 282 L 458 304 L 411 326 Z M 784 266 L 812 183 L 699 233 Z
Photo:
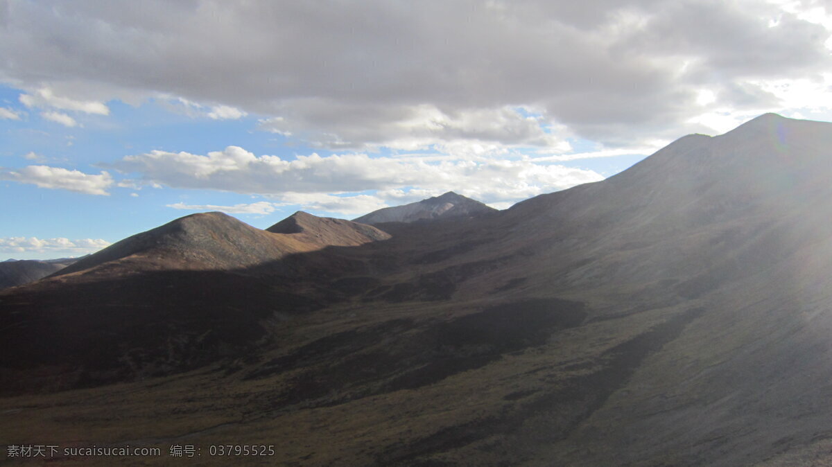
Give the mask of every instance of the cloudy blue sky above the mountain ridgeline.
M 0 260 L 219 210 L 498 209 L 765 112 L 832 120 L 828 0 L 0 0 Z

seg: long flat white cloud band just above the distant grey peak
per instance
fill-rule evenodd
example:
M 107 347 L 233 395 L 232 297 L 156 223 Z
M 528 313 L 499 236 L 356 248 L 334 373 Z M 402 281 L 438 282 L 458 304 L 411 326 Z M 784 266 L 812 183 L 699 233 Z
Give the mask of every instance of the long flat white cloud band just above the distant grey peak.
M 257 156 L 237 146 L 207 155 L 154 150 L 128 155 L 106 166 L 138 174 L 146 183 L 172 188 L 285 195 L 416 187 L 439 193 L 453 189 L 489 202 L 527 198 L 602 179 L 592 170 L 537 163 L 527 158 L 431 160 L 312 154 L 285 160 L 276 155 Z

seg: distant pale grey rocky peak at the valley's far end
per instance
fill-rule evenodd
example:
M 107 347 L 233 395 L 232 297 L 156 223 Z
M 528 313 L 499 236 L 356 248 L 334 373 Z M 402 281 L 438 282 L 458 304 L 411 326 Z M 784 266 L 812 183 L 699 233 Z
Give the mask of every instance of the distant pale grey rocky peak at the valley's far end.
M 382 208 L 353 220 L 362 224 L 414 222 L 422 219 L 470 217 L 496 211 L 497 209 L 479 201 L 448 191 L 441 196 L 423 199 L 417 203 Z

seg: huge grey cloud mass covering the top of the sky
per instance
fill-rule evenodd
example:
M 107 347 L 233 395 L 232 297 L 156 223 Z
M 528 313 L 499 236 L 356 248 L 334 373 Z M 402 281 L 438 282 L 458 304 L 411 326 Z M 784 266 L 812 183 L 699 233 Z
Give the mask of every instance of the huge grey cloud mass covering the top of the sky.
M 782 110 L 768 83 L 830 69 L 819 4 L 12 2 L 0 79 L 32 89 L 27 105 L 102 113 L 175 96 L 337 150 L 474 141 L 498 154 L 561 144 L 552 125 L 638 145 L 706 129 L 708 112 Z

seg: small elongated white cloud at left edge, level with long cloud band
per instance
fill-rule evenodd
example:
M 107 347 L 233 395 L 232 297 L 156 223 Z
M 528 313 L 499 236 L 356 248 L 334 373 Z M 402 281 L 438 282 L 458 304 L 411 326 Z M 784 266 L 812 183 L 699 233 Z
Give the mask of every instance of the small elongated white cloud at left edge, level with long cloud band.
M 85 174 L 48 165 L 28 165 L 22 169 L 0 172 L 0 179 L 35 184 L 41 188 L 68 189 L 83 194 L 109 195 L 106 189 L 113 184 L 110 174 Z

